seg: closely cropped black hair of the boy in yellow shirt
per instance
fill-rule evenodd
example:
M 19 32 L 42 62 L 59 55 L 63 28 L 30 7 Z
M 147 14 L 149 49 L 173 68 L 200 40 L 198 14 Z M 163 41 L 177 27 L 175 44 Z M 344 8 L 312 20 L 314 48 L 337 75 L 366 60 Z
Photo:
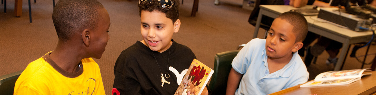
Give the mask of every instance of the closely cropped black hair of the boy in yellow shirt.
M 59 41 L 66 42 L 81 28 L 94 30 L 104 8 L 97 0 L 59 0 L 53 8 L 52 20 Z

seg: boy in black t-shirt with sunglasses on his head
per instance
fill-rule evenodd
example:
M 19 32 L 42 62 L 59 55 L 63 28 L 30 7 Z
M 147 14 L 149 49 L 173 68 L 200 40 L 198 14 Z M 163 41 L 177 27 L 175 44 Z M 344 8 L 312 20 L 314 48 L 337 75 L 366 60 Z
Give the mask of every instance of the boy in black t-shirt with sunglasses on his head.
M 138 7 L 143 40 L 118 57 L 112 92 L 173 95 L 182 81 L 177 77 L 184 76 L 196 58 L 191 49 L 172 39 L 180 28 L 179 0 L 140 0 Z

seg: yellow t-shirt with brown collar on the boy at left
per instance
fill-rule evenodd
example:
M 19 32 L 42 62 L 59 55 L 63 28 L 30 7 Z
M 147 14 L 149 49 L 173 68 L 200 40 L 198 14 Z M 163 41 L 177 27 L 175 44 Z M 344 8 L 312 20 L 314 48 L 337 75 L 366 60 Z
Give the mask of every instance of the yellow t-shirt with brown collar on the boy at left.
M 105 95 L 99 66 L 92 58 L 82 59 L 80 70 L 69 73 L 52 61 L 50 53 L 27 65 L 14 95 Z

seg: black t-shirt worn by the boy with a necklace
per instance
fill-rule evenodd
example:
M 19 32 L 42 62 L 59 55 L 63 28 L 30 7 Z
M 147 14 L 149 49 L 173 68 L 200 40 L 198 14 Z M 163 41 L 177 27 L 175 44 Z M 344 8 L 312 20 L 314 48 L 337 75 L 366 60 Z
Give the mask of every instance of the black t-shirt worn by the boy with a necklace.
M 162 53 L 152 51 L 137 41 L 123 50 L 116 60 L 113 88 L 116 88 L 121 95 L 173 95 L 179 85 L 175 74 L 168 70 L 168 67 L 171 66 L 182 73 L 189 68 L 194 58 L 196 56 L 191 49 L 174 41 L 171 47 Z M 164 83 L 161 87 L 161 73 L 164 75 L 166 72 L 170 78 L 164 77 L 164 79 L 170 82 L 170 85 Z

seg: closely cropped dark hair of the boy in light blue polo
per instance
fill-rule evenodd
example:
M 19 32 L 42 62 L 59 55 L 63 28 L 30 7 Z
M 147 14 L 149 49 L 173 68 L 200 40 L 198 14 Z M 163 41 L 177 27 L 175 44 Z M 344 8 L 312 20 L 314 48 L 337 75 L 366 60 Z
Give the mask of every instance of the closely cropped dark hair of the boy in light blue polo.
M 278 15 L 277 18 L 286 20 L 289 24 L 293 25 L 293 33 L 296 37 L 295 43 L 298 41 L 303 42 L 308 33 L 308 24 L 302 14 L 289 11 Z

